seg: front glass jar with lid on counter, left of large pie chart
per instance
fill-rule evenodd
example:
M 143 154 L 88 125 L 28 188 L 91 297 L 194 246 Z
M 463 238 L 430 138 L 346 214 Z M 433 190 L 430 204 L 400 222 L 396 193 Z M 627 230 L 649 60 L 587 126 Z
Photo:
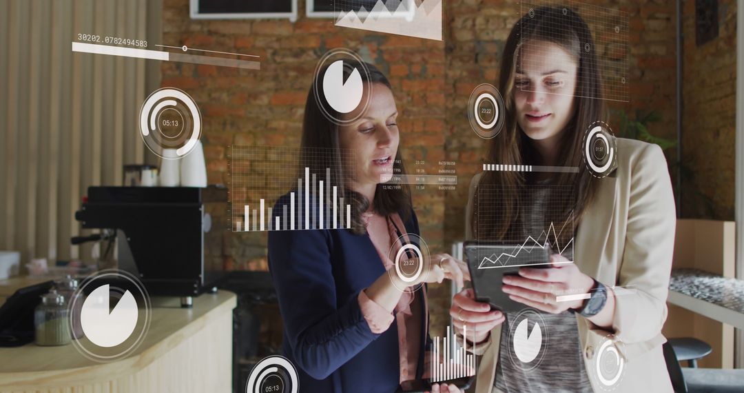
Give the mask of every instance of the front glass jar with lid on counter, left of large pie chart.
M 51 290 L 42 295 L 42 302 L 33 311 L 36 345 L 65 345 L 70 342 L 69 312 L 65 297 Z

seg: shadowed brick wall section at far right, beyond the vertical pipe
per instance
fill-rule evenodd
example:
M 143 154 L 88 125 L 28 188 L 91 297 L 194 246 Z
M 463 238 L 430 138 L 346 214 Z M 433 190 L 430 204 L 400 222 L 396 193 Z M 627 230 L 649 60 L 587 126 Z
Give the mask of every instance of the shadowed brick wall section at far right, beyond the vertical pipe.
M 684 217 L 734 220 L 737 2 L 719 0 L 719 36 L 696 45 L 695 1 L 684 2 Z

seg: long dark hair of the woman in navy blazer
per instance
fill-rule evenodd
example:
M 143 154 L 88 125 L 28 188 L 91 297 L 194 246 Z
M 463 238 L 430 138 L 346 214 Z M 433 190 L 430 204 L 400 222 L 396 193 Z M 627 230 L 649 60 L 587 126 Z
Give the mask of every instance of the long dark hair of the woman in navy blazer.
M 361 64 L 355 60 L 344 60 L 344 63 L 348 66 L 344 66 L 344 80 L 350 76 L 350 71 L 354 68 L 362 69 Z M 365 63 L 368 73 L 362 72 L 362 82 L 365 86 L 368 83 L 380 83 L 391 89 L 392 86 L 390 81 L 382 71 L 379 71 L 374 65 Z M 321 100 L 325 100 L 323 94 L 323 84 L 318 83 L 315 85 L 316 80 L 322 80 L 322 75 L 327 71 L 327 67 L 323 68 L 321 77 L 313 80 L 313 86 L 310 88 L 310 92 L 307 94 L 307 103 L 305 104 L 305 115 L 302 123 L 302 141 L 301 146 L 303 148 L 321 148 L 330 152 L 333 156 L 328 160 L 327 164 L 330 167 L 331 182 L 334 185 L 339 185 L 340 194 L 344 196 L 347 201 L 353 201 L 351 210 L 351 231 L 355 234 L 365 234 L 367 229 L 365 223 L 362 220 L 362 213 L 368 210 L 370 207 L 370 201 L 361 194 L 348 188 L 347 181 L 353 173 L 346 173 L 349 168 L 344 167 L 344 152 L 341 151 L 339 146 L 339 125 L 330 121 L 329 118 L 324 114 L 323 110 L 330 112 L 336 118 L 340 117 L 339 112 L 334 112 L 327 102 L 323 101 L 318 103 L 319 97 Z M 315 94 L 315 89 L 318 89 L 318 95 Z M 321 109 L 323 105 L 324 109 Z M 306 149 L 303 149 L 306 150 Z M 395 154 L 395 161 L 393 164 L 393 173 L 403 174 L 405 168 L 403 165 L 403 156 L 400 154 L 400 146 Z M 312 159 L 311 157 L 303 157 L 302 167 L 310 167 L 310 170 L 315 173 L 322 173 L 321 170 L 325 170 L 327 167 L 322 160 Z M 328 196 L 330 197 L 330 196 Z M 411 191 L 408 185 L 388 185 L 383 187 L 382 184 L 378 184 L 375 197 L 372 201 L 374 211 L 377 214 L 387 216 L 389 214 L 399 213 L 401 218 L 405 221 L 411 214 Z

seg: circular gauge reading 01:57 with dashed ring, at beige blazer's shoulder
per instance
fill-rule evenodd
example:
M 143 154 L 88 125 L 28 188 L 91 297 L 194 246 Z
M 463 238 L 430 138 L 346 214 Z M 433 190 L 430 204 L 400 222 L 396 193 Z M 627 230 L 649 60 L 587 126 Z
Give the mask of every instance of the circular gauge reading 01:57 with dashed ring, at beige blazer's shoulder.
M 582 154 L 586 168 L 603 178 L 618 167 L 618 147 L 612 130 L 603 121 L 595 121 L 586 130 Z

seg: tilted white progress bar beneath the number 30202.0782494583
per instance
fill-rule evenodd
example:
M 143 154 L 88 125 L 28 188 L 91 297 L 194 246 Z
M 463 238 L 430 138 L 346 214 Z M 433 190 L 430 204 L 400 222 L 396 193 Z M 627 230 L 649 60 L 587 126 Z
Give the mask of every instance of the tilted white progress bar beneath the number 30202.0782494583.
M 202 51 L 182 47 L 183 51 Z M 72 51 L 89 54 L 108 54 L 109 56 L 133 57 L 137 59 L 175 61 L 181 63 L 192 63 L 202 65 L 217 65 L 219 67 L 234 67 L 259 70 L 261 63 L 257 60 L 238 60 L 225 57 L 203 56 L 199 54 L 187 54 L 168 51 L 153 51 L 151 49 L 126 48 L 121 46 L 89 44 L 87 42 L 72 42 Z M 228 54 L 226 52 L 215 52 Z M 244 54 L 230 54 L 234 56 L 249 57 Z M 252 57 L 252 56 L 250 56 Z M 257 57 L 255 57 L 257 58 Z

